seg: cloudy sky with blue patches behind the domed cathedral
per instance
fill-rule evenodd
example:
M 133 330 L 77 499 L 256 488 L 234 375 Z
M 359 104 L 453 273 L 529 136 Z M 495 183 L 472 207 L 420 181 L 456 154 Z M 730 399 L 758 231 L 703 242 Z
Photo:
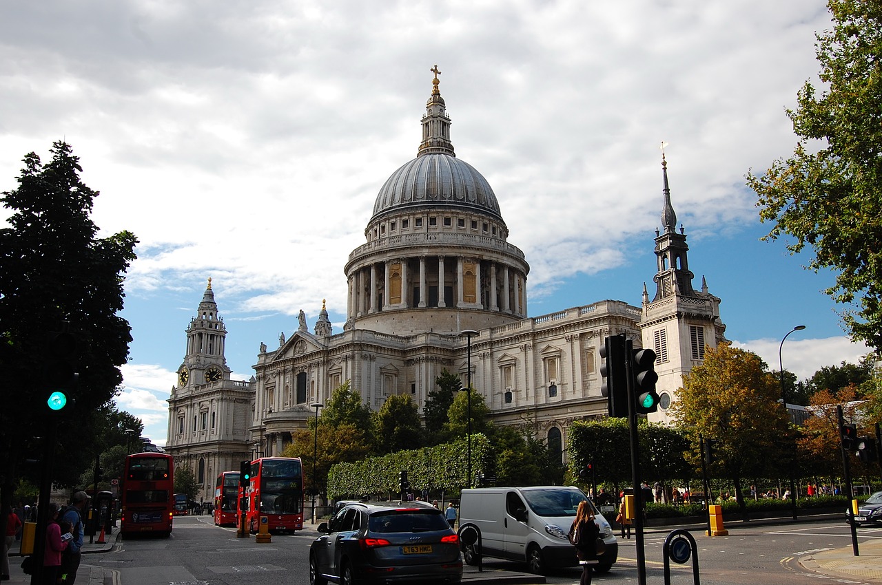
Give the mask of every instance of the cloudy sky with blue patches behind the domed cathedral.
M 786 110 L 830 26 L 819 0 L 11 0 L 0 191 L 63 139 L 101 192 L 99 235 L 137 235 L 116 400 L 164 445 L 208 278 L 234 379 L 300 309 L 312 330 L 326 300 L 342 330 L 343 265 L 415 157 L 437 64 L 457 156 L 530 263 L 530 316 L 654 292 L 665 142 L 693 285 L 733 344 L 804 380 L 867 349 L 823 292 L 834 275 L 760 241 L 744 175 L 793 152 Z

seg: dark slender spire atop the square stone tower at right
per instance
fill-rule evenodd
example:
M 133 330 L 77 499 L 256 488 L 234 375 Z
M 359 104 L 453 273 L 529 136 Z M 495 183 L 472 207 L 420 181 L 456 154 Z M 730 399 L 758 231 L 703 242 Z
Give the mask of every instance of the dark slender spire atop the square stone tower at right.
M 670 187 L 668 184 L 668 161 L 662 152 L 662 226 L 663 231 L 655 230 L 655 257 L 657 272 L 655 273 L 655 298 L 662 300 L 670 296 L 695 296 L 692 289 L 693 274 L 689 270 L 686 253 L 686 235 L 683 226 L 676 233 L 676 213 L 670 203 Z

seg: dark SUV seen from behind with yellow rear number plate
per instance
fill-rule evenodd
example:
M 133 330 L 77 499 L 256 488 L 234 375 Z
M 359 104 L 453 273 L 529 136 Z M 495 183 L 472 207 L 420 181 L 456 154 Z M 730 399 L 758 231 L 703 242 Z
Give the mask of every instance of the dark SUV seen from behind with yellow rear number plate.
M 462 580 L 460 538 L 436 507 L 349 502 L 310 545 L 310 585 Z

